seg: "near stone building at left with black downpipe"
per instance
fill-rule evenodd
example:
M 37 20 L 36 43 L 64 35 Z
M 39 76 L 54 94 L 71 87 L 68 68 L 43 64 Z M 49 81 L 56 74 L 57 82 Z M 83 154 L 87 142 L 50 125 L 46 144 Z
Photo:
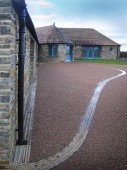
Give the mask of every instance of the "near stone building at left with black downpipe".
M 24 140 L 19 124 L 28 111 L 37 56 L 38 39 L 25 1 L 0 0 L 0 169 L 12 164 L 16 142 Z

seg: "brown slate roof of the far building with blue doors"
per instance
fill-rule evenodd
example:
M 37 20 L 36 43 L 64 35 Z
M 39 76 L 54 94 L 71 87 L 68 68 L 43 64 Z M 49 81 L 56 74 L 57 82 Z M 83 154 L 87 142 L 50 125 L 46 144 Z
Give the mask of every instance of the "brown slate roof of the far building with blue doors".
M 55 25 L 36 29 L 40 44 L 68 43 L 75 45 L 119 45 L 90 28 L 57 28 Z

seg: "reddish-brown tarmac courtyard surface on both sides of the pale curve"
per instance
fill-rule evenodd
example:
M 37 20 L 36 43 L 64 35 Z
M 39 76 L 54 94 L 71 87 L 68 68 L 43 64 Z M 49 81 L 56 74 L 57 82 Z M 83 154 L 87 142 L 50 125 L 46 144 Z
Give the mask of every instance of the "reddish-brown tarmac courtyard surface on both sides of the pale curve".
M 79 130 L 97 84 L 126 66 L 39 64 L 30 162 L 63 150 Z M 127 75 L 101 92 L 88 135 L 79 150 L 53 170 L 127 169 Z

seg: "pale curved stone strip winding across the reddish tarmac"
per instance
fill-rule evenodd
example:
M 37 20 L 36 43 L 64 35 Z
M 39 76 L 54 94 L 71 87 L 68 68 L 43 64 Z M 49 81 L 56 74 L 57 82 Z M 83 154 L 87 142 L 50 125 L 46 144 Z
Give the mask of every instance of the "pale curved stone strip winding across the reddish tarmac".
M 61 162 L 64 162 L 67 160 L 70 156 L 74 154 L 75 151 L 77 151 L 82 143 L 84 142 L 91 120 L 94 116 L 94 112 L 97 106 L 97 102 L 100 96 L 101 91 L 103 90 L 104 86 L 111 80 L 114 80 L 118 77 L 124 76 L 126 74 L 125 71 L 117 69 L 118 71 L 122 72 L 116 76 L 110 77 L 106 80 L 103 80 L 98 83 L 97 87 L 94 90 L 94 94 L 92 96 L 91 101 L 89 102 L 89 105 L 86 110 L 84 110 L 84 116 L 82 119 L 82 122 L 79 127 L 79 132 L 76 134 L 76 136 L 73 138 L 73 140 L 70 142 L 68 146 L 66 146 L 61 152 L 56 153 L 54 156 L 51 156 L 47 159 L 42 159 L 36 163 L 28 163 L 27 165 L 22 165 L 19 169 L 23 170 L 27 166 L 27 168 L 32 169 L 36 167 L 40 170 L 48 170 L 50 168 L 53 168 L 54 166 L 57 166 Z M 19 167 L 19 166 L 18 166 Z

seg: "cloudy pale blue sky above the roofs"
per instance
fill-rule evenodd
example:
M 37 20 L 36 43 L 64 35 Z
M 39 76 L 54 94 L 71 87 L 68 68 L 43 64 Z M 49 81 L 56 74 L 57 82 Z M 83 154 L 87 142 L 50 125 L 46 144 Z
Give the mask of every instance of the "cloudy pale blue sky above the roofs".
M 26 0 L 35 27 L 94 28 L 127 51 L 127 0 Z

